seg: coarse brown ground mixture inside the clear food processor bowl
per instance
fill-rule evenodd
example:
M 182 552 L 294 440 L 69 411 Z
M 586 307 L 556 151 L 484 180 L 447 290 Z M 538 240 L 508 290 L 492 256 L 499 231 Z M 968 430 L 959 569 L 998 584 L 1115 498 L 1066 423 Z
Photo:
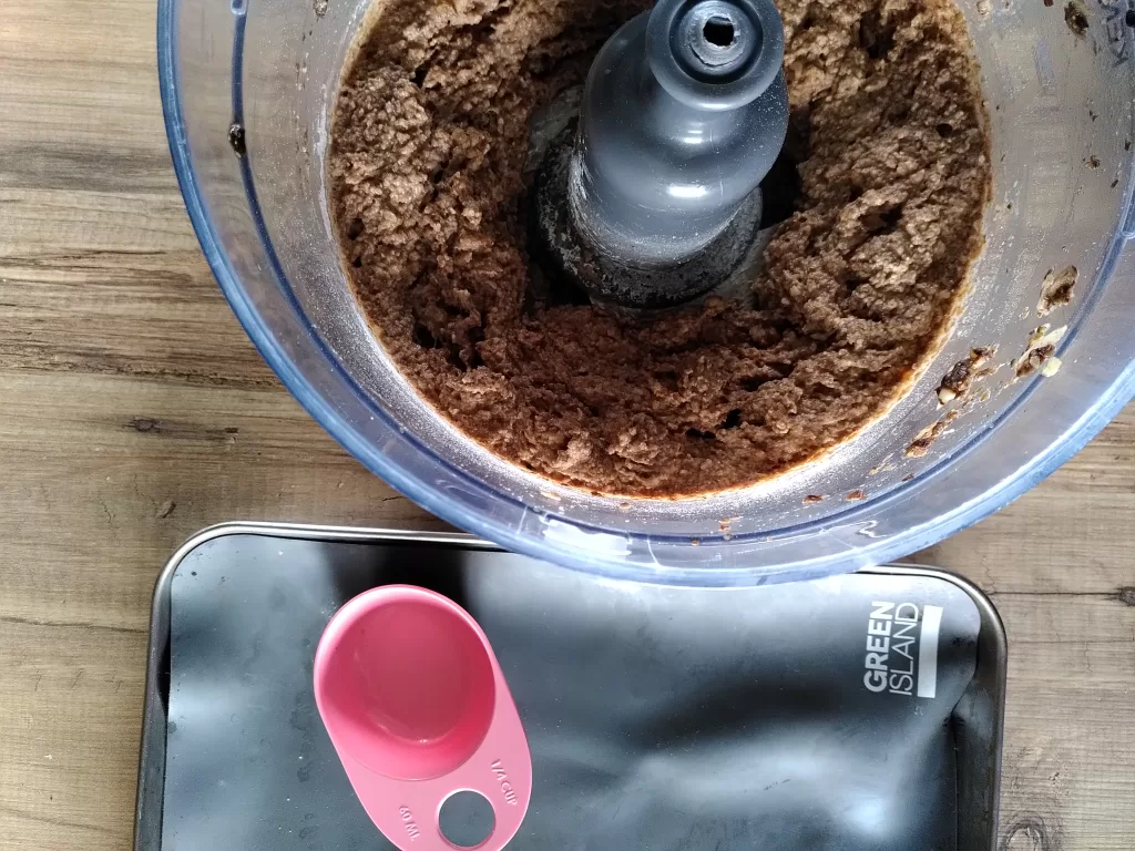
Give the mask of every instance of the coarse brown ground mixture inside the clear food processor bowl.
M 637 322 L 547 296 L 524 161 L 532 112 L 647 3 L 377 2 L 331 134 L 345 264 L 418 391 L 501 457 L 607 494 L 735 488 L 863 428 L 933 349 L 991 180 L 950 0 L 780 2 L 794 212 L 753 303 Z

